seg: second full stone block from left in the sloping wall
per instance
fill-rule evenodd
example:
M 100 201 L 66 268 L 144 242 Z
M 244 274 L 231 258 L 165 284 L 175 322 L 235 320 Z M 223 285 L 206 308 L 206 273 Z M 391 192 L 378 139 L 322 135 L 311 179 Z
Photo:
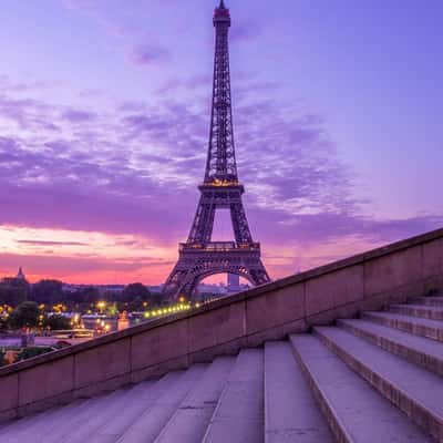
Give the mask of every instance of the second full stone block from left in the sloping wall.
M 75 388 L 104 382 L 131 371 L 131 339 L 93 348 L 75 356 Z

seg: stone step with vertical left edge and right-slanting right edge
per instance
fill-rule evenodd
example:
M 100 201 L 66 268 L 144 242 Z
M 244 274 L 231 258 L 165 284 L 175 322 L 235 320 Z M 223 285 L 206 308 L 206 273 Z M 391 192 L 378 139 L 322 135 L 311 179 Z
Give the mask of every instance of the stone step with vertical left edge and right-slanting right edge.
M 287 341 L 265 343 L 265 441 L 334 442 Z

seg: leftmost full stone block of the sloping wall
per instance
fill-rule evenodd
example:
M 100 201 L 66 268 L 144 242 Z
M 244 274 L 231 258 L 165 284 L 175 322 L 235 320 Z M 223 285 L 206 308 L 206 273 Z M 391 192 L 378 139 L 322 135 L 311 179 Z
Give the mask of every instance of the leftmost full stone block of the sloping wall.
M 41 364 L 20 373 L 19 404 L 22 406 L 74 389 L 74 358 L 66 357 L 50 365 Z

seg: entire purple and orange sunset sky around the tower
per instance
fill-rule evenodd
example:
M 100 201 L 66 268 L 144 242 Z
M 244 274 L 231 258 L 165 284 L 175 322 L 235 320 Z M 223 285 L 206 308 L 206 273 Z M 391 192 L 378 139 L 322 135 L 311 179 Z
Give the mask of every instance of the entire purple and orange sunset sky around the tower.
M 164 281 L 204 176 L 215 3 L 2 0 L 0 277 Z M 270 276 L 442 227 L 443 2 L 226 4 Z

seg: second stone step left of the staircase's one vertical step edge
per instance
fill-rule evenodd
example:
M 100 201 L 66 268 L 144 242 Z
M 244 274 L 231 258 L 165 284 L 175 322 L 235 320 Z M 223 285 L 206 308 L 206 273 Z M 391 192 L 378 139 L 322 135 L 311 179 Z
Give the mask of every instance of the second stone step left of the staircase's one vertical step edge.
M 235 357 L 219 357 L 214 360 L 202 380 L 167 422 L 155 443 L 202 441 L 235 360 Z

